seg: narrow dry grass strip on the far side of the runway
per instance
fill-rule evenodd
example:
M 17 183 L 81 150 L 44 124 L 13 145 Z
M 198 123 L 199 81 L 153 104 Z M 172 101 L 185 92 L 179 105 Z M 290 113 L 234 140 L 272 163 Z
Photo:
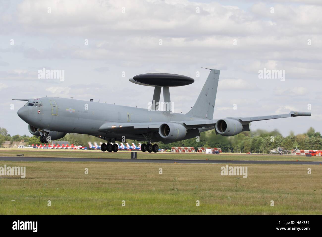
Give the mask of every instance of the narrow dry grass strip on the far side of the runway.
M 60 150 L 60 149 L 7 149 L 0 148 L 0 156 L 16 156 L 24 154 L 27 157 L 80 157 L 80 158 L 129 158 L 130 152 L 102 152 L 100 150 Z M 304 155 L 270 155 L 270 154 L 238 154 L 221 153 L 220 155 L 205 153 L 148 153 L 137 152 L 138 159 L 211 159 L 211 160 L 264 160 L 264 161 L 321 161 L 322 156 L 306 157 Z M 22 158 L 23 159 L 23 158 Z

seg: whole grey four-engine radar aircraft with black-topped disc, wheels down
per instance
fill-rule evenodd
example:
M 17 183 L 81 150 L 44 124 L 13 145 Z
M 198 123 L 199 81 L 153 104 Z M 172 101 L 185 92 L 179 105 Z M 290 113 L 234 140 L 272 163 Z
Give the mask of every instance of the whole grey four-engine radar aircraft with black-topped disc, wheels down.
M 66 133 L 89 134 L 107 141 L 102 151 L 117 152 L 115 141 L 134 139 L 147 141 L 141 145 L 142 152 L 158 152 L 157 144 L 171 143 L 200 136 L 201 132 L 215 129 L 222 136 L 233 136 L 249 131 L 253 121 L 310 116 L 309 112 L 267 115 L 259 117 L 227 117 L 213 119 L 220 70 L 210 69 L 210 74 L 191 110 L 187 114 L 158 110 L 161 88 L 164 102 L 171 104 L 169 87 L 187 85 L 194 79 L 177 74 L 140 74 L 129 80 L 136 84 L 154 86 L 153 109 L 136 108 L 115 104 L 98 103 L 58 97 L 14 99 L 27 101 L 18 110 L 31 134 L 40 136 L 41 142 L 57 140 Z M 155 109 L 156 108 L 156 109 Z

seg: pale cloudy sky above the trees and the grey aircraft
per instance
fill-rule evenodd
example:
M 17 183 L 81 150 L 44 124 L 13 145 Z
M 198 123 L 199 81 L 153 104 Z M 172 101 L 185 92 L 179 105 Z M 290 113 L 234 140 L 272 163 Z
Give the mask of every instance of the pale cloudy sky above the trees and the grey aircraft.
M 194 105 L 209 70 L 220 78 L 214 119 L 311 112 L 251 130 L 322 132 L 322 2 L 0 1 L 0 127 L 27 134 L 12 99 L 63 97 L 147 108 L 153 87 L 128 79 L 174 73 L 176 113 Z M 64 80 L 38 70 L 63 70 Z M 278 78 L 260 71 L 279 70 Z M 199 76 L 198 76 L 199 75 Z M 161 95 L 162 101 L 162 95 Z

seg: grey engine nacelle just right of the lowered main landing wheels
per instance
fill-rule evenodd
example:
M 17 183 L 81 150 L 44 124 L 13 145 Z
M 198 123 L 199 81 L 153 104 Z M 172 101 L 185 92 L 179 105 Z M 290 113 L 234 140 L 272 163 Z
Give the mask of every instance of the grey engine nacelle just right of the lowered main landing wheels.
M 180 123 L 163 123 L 159 127 L 159 134 L 166 140 L 175 141 L 183 139 L 187 134 L 187 130 Z

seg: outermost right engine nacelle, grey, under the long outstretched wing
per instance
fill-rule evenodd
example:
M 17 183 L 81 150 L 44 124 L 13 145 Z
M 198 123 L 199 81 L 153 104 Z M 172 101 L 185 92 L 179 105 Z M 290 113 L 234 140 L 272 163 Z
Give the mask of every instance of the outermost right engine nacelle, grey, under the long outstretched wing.
M 222 136 L 234 136 L 242 132 L 242 123 L 235 119 L 219 119 L 216 123 L 216 132 Z

